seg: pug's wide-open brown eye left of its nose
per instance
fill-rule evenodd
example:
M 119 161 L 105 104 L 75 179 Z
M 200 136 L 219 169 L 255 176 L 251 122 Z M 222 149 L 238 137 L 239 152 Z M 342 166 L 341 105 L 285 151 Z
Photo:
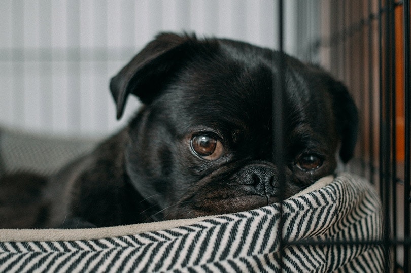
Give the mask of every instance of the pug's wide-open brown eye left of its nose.
M 207 160 L 216 160 L 223 155 L 223 145 L 219 140 L 209 135 L 195 135 L 191 139 L 192 150 Z

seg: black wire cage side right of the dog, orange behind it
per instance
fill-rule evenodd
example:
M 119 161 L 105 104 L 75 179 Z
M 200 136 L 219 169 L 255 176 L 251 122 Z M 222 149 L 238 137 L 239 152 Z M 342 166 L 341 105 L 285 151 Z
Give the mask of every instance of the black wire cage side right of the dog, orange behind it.
M 324 3 L 322 3 L 324 5 Z M 386 270 L 411 271 L 411 45 L 409 1 L 330 1 L 325 29 L 315 42 L 323 64 L 356 100 L 359 141 L 348 166 L 379 189 L 391 250 Z

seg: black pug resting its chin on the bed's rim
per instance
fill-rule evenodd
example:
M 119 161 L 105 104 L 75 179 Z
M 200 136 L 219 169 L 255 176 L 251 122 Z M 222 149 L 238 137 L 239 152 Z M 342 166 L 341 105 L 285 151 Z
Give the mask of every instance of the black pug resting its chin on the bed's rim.
M 281 74 L 278 127 L 272 93 Z M 144 107 L 124 130 L 47 181 L 20 179 L 42 189 L 30 197 L 36 206 L 25 207 L 31 217 L 17 219 L 19 227 L 104 227 L 250 210 L 333 174 L 338 152 L 343 162 L 353 155 L 357 110 L 346 87 L 318 67 L 247 43 L 163 33 L 110 89 L 117 118 L 130 94 Z M 283 167 L 273 162 L 278 128 Z

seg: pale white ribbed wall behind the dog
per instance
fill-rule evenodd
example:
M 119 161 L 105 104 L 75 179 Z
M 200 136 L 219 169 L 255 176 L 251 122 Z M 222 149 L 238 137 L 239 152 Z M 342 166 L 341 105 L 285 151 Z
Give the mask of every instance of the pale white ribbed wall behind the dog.
M 285 2 L 285 48 L 298 55 L 298 0 Z M 311 1 L 315 3 L 315 1 Z M 277 1 L 2 0 L 0 126 L 101 135 L 115 119 L 108 83 L 156 33 L 195 31 L 278 47 Z

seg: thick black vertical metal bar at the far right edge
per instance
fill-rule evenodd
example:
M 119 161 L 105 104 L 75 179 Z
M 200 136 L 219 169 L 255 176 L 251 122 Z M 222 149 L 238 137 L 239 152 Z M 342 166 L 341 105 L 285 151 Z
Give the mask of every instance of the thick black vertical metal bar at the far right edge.
M 405 171 L 404 171 L 404 238 L 408 244 L 404 246 L 404 272 L 411 271 L 411 253 L 409 239 L 410 225 L 410 186 L 411 186 L 411 27 L 409 0 L 404 0 L 404 92 L 405 92 Z

